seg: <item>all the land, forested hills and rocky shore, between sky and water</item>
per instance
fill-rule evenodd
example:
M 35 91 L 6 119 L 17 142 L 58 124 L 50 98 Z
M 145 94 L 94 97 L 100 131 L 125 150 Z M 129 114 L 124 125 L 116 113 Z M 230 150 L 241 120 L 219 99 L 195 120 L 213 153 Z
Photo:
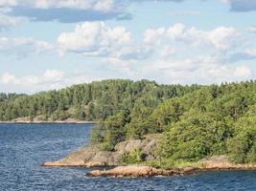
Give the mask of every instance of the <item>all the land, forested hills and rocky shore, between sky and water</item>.
M 22 117 L 97 121 L 90 145 L 47 167 L 110 168 L 92 171 L 96 177 L 256 168 L 255 80 L 182 86 L 109 79 L 32 96 L 2 94 L 0 120 Z

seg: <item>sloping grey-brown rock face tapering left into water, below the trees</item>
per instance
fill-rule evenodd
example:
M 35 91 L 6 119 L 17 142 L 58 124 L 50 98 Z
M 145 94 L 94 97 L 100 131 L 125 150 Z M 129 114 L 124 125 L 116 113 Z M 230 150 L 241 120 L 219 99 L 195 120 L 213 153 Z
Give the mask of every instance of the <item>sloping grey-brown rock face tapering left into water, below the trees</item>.
M 58 161 L 45 162 L 44 166 L 60 167 L 100 167 L 122 165 L 121 159 L 133 149 L 141 149 L 148 159 L 154 159 L 153 150 L 159 135 L 149 135 L 144 139 L 130 139 L 118 143 L 113 152 L 102 151 L 99 145 L 89 145 Z

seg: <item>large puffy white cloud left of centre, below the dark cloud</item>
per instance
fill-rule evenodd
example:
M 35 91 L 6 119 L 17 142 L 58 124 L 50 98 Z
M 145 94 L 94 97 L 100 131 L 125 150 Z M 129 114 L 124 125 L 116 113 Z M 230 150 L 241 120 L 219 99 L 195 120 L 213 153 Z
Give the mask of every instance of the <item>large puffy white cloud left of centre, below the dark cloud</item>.
M 110 28 L 104 22 L 85 22 L 74 32 L 62 32 L 58 36 L 61 52 L 81 53 L 86 56 L 139 59 L 143 48 L 134 44 L 131 33 L 124 27 Z

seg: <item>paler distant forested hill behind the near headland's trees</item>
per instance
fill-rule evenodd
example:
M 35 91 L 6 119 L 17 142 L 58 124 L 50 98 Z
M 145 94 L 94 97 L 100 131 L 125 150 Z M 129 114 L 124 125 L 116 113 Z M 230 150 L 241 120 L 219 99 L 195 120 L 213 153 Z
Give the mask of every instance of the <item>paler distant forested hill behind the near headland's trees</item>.
M 151 107 L 155 107 L 163 100 L 184 96 L 198 89 L 198 85 L 158 85 L 148 80 L 133 82 L 116 79 L 74 85 L 33 96 L 2 93 L 0 120 L 29 117 L 32 121 L 35 119 L 55 121 L 67 118 L 99 121 L 120 111 L 131 112 L 134 104 L 139 101 L 148 101 Z

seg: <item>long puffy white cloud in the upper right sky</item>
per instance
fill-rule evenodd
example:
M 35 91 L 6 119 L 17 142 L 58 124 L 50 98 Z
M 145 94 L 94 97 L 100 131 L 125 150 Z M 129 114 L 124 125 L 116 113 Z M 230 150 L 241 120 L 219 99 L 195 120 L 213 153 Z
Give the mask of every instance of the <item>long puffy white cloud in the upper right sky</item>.
M 195 47 L 211 46 L 221 52 L 226 52 L 234 46 L 238 35 L 239 33 L 232 27 L 201 31 L 195 27 L 188 28 L 178 23 L 168 29 L 147 30 L 144 33 L 144 42 L 148 45 L 155 45 L 169 40 L 171 43 L 181 42 Z

